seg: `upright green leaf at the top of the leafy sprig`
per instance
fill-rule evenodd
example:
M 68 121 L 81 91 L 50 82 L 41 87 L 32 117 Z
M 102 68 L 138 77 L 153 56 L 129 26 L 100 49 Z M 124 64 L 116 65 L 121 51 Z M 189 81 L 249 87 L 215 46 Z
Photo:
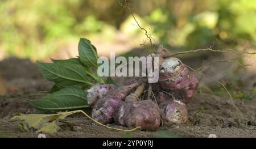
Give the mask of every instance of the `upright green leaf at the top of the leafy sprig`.
M 88 39 L 81 38 L 79 41 L 79 58 L 86 66 L 98 67 L 97 50 Z

